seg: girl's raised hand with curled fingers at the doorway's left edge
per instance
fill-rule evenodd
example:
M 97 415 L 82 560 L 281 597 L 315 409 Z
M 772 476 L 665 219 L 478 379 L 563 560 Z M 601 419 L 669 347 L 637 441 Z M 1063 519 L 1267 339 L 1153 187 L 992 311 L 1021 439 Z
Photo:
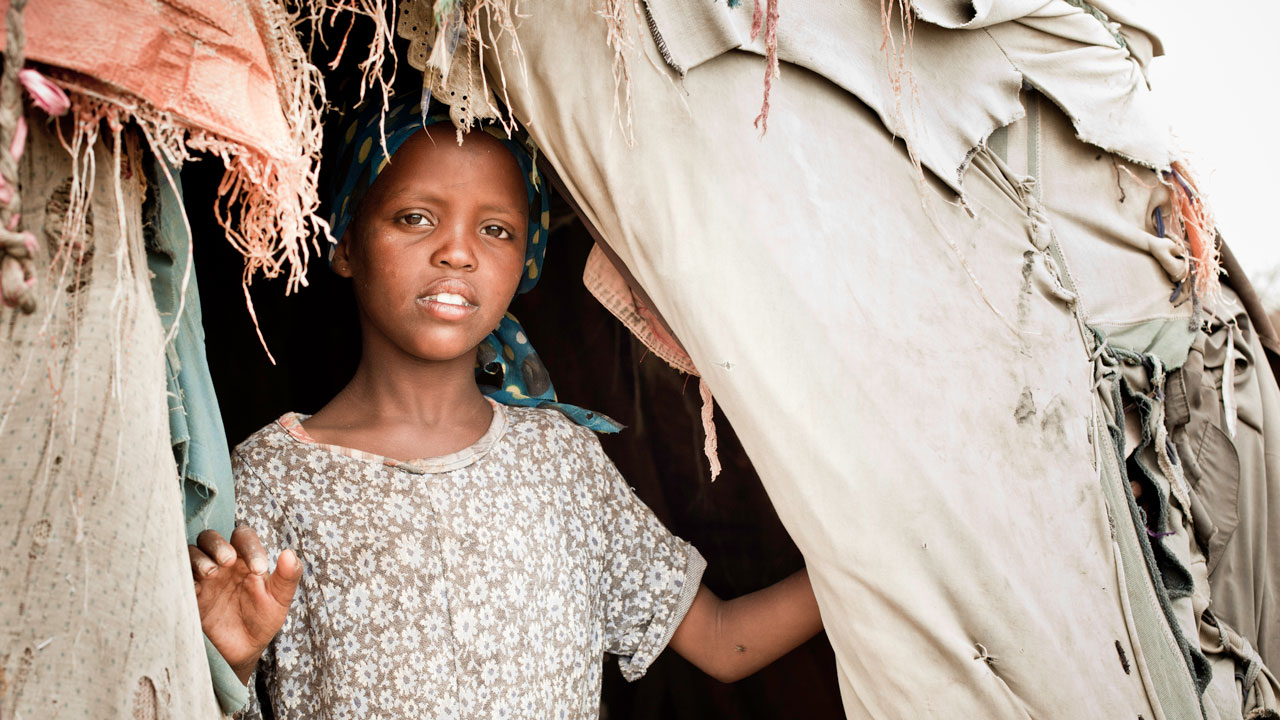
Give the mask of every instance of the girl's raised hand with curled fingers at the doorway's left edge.
M 205 530 L 188 544 L 196 579 L 200 625 L 218 652 L 248 684 L 262 651 L 284 625 L 289 602 L 302 578 L 302 564 L 292 550 L 280 552 L 269 573 L 266 551 L 252 528 L 239 527 L 227 542 L 218 530 Z

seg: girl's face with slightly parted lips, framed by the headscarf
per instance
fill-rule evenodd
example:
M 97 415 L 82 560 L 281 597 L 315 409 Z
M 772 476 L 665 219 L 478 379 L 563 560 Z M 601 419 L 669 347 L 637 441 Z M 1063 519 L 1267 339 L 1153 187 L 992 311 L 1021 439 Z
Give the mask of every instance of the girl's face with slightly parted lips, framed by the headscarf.
M 484 132 L 415 133 L 378 176 L 334 254 L 352 279 L 365 352 L 475 359 L 525 264 L 529 205 L 511 151 Z

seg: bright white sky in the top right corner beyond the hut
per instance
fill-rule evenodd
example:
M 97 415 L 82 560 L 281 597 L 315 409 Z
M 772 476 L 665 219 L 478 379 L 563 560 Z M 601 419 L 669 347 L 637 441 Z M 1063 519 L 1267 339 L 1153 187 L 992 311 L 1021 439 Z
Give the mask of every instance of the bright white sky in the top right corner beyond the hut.
M 1280 309 L 1280 3 L 1161 0 L 1151 83 L 1244 272 Z

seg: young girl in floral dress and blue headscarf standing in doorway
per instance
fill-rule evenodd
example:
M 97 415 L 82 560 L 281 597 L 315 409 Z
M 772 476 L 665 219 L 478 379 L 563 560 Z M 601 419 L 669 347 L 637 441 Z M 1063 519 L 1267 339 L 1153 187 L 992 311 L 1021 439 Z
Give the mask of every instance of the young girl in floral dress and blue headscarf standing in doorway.
M 422 124 L 389 113 L 390 161 L 376 115 L 344 136 L 332 264 L 360 365 L 319 413 L 237 447 L 242 527 L 189 548 L 214 646 L 265 675 L 282 720 L 580 719 L 605 652 L 636 679 L 669 644 L 732 682 L 815 634 L 804 571 L 728 602 L 701 587 L 701 556 L 589 429 L 612 423 L 554 401 L 506 314 L 547 242 L 525 149 Z M 488 396 L 477 357 L 502 374 Z

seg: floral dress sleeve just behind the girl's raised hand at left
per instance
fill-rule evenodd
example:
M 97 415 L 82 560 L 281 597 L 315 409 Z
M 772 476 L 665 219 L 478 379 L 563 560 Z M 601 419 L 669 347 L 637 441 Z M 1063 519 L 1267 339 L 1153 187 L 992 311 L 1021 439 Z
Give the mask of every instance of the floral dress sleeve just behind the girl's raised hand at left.
M 232 470 L 236 475 L 236 525 L 253 528 L 257 538 L 262 542 L 264 550 L 266 550 L 273 573 L 275 571 L 275 561 L 280 556 L 280 551 L 293 548 L 298 560 L 303 561 L 303 575 L 302 582 L 298 584 L 298 592 L 293 596 L 293 605 L 289 609 L 288 618 L 284 620 L 284 625 L 276 633 L 271 644 L 266 647 L 262 659 L 259 660 L 255 676 L 250 682 L 248 706 L 242 715 L 237 716 L 244 720 L 260 720 L 262 717 L 260 707 L 265 702 L 269 702 L 276 710 L 274 715 L 279 717 L 283 708 L 278 705 L 280 688 L 275 682 L 276 669 L 282 662 L 292 666 L 302 661 L 302 657 L 310 660 L 308 648 L 300 648 L 298 639 L 301 638 L 303 642 L 308 639 L 308 633 L 306 633 L 306 585 L 311 569 L 305 561 L 306 555 L 300 547 L 300 536 L 289 521 L 287 509 L 271 495 L 268 483 L 259 475 L 257 460 L 261 459 L 252 450 L 242 452 L 241 448 L 237 448 L 232 454 Z M 259 682 L 260 679 L 262 680 L 261 683 Z M 262 685 L 266 688 L 268 697 L 261 697 L 257 692 L 259 687 Z M 293 693 L 288 694 L 292 696 Z M 284 701 L 285 706 L 292 705 L 289 700 L 294 698 L 287 697 Z

